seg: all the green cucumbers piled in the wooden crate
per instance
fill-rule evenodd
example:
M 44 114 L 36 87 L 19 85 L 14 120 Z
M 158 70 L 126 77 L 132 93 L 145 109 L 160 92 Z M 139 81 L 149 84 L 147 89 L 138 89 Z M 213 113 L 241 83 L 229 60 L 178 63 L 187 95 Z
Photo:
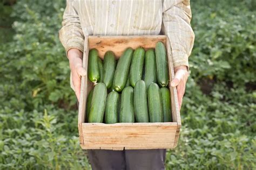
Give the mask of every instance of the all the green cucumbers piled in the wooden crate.
M 91 49 L 88 61 L 88 77 L 96 85 L 87 96 L 86 122 L 172 122 L 163 42 L 146 52 L 127 48 L 118 62 L 111 51 L 102 61 L 97 49 Z

